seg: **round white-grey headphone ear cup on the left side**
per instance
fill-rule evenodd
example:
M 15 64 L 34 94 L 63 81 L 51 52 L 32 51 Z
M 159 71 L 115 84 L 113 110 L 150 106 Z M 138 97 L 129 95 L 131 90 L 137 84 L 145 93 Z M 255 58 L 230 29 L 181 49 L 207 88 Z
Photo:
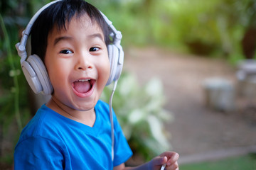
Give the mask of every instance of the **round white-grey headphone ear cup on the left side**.
M 29 86 L 36 94 L 42 92 L 49 95 L 53 92 L 46 67 L 40 57 L 37 55 L 29 56 L 26 61 L 22 62 L 21 67 Z

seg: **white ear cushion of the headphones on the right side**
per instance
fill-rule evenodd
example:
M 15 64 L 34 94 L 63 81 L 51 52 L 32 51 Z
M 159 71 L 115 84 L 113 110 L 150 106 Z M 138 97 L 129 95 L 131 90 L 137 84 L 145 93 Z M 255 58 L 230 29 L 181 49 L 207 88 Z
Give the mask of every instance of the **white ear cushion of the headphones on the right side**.
M 108 45 L 107 46 L 107 51 L 110 59 L 110 77 L 107 80 L 107 85 L 110 85 L 112 81 L 114 81 L 116 74 L 117 74 L 117 62 L 118 62 L 118 57 L 119 57 L 119 52 L 116 46 L 114 45 Z

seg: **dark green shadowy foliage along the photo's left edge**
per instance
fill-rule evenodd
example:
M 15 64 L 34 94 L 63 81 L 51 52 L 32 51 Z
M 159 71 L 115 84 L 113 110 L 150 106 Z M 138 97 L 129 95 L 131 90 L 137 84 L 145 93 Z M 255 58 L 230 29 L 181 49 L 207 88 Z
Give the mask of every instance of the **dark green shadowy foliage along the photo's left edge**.
M 15 44 L 33 13 L 31 6 L 26 1 L 0 1 L 0 166 L 12 164 L 14 146 L 29 118 L 27 83 Z

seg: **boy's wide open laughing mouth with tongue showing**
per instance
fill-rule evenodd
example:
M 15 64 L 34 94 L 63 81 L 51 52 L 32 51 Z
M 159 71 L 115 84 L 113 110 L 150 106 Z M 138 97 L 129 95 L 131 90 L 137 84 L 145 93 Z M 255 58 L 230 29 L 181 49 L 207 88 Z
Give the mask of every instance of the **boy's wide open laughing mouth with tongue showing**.
M 80 94 L 85 94 L 92 89 L 95 84 L 93 79 L 78 79 L 73 82 L 73 88 Z

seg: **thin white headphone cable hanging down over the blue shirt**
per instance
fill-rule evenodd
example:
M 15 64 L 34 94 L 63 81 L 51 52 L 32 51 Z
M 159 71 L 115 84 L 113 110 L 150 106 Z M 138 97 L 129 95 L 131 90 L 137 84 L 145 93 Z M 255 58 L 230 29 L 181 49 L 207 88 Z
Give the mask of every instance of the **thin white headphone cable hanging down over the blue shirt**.
M 114 91 L 117 88 L 117 81 L 114 81 L 114 87 L 112 90 L 112 94 L 110 96 L 110 123 L 111 123 L 111 154 L 112 154 L 112 161 L 114 161 L 114 122 L 113 122 L 113 113 L 112 113 L 112 99 L 114 96 Z

